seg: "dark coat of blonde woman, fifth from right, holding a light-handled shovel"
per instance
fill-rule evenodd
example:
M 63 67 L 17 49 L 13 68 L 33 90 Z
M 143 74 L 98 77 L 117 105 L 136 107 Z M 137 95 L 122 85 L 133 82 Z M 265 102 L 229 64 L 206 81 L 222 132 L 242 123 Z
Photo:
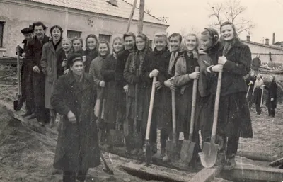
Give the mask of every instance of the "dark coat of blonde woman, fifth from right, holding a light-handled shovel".
M 155 49 L 151 53 L 153 60 L 151 70 L 157 69 L 159 71 L 157 81 L 160 81 L 162 85 L 161 89 L 156 89 L 152 119 L 156 120 L 158 129 L 168 131 L 172 128 L 171 90 L 164 86 L 164 81 L 173 77 L 168 73 L 170 56 L 167 48 L 160 52 Z

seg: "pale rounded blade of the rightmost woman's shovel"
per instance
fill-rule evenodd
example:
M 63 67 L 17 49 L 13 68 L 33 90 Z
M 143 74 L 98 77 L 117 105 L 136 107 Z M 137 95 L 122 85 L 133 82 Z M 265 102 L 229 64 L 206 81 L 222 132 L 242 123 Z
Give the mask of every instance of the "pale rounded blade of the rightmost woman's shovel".
M 202 152 L 199 153 L 202 166 L 204 166 L 205 168 L 211 168 L 212 166 L 214 166 L 217 159 L 218 149 L 218 144 L 204 142 Z

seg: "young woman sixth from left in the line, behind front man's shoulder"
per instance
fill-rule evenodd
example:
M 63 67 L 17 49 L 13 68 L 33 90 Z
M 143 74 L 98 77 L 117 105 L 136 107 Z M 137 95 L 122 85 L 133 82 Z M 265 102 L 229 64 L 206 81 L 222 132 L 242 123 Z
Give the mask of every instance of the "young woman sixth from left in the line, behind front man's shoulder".
M 83 55 L 86 56 L 86 61 L 84 62 L 84 72 L 89 72 L 89 67 L 91 66 L 91 61 L 98 57 L 98 51 L 96 45 L 98 44 L 98 38 L 96 35 L 90 34 L 86 37 L 86 50 Z

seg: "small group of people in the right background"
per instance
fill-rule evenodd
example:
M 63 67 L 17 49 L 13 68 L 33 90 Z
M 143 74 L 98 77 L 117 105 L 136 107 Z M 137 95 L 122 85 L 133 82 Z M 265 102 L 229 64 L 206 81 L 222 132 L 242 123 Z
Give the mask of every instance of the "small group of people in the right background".
M 248 92 L 246 97 L 248 98 L 248 106 L 252 108 L 255 103 L 255 111 L 258 115 L 262 112 L 262 104 L 264 97 L 264 89 L 267 90 L 267 98 L 265 99 L 265 106 L 268 110 L 268 116 L 275 117 L 275 108 L 277 107 L 277 83 L 274 75 L 270 75 L 267 78 L 268 84 L 265 85 L 262 74 L 255 76 L 254 72 L 250 72 L 246 79 L 248 84 Z

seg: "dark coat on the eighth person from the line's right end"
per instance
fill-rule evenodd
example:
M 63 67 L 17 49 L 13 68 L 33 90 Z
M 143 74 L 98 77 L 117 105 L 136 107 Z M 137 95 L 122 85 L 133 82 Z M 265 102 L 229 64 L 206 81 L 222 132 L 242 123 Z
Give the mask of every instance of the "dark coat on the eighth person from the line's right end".
M 115 123 L 117 115 L 117 106 L 116 103 L 116 93 L 115 90 L 115 67 L 117 59 L 113 55 L 110 55 L 107 59 L 104 60 L 101 68 L 101 75 L 103 80 L 106 82 L 105 86 L 105 121 Z

